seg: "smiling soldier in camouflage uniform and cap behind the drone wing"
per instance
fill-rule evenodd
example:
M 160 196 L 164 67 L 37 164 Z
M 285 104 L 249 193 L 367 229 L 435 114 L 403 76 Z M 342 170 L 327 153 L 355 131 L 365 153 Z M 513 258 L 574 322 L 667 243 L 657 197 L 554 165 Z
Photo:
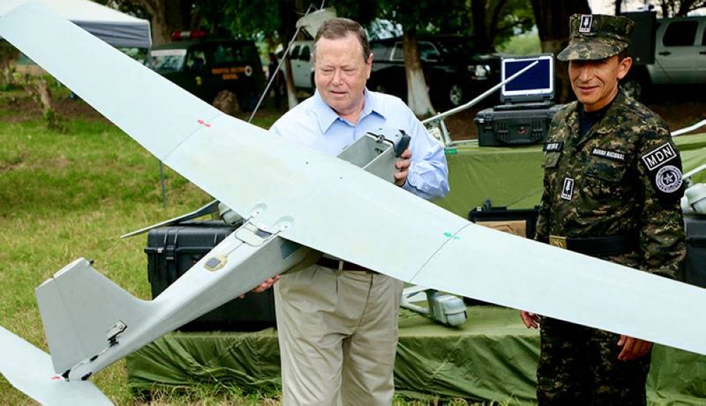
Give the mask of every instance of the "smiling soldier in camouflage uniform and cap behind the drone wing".
M 578 102 L 544 144 L 538 241 L 666 277 L 686 255 L 681 160 L 657 114 L 618 89 L 632 64 L 628 18 L 575 15 L 558 59 Z M 636 271 L 637 272 L 637 271 Z M 621 311 L 613 309 L 612 311 Z M 645 405 L 652 343 L 522 311 L 541 325 L 539 405 Z

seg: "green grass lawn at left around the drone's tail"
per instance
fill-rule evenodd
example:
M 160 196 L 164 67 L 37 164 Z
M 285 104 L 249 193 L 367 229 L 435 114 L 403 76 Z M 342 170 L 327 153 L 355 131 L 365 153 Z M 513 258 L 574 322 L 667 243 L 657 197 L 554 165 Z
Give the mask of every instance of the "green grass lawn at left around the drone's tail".
M 0 318 L 8 330 L 46 350 L 34 289 L 85 256 L 131 294 L 150 299 L 144 236 L 119 235 L 184 213 L 210 199 L 167 169 L 162 208 L 159 162 L 103 120 L 68 121 L 68 133 L 41 120 L 0 123 Z M 124 362 L 95 383 L 116 404 L 131 402 Z M 0 402 L 28 402 L 5 381 Z

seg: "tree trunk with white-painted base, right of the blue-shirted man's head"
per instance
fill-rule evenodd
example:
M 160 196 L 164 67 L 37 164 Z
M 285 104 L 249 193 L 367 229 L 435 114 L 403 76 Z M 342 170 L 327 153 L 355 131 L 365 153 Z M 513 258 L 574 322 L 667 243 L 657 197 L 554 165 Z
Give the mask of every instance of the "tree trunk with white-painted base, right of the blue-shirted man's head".
M 417 30 L 408 28 L 402 37 L 405 47 L 405 75 L 407 76 L 407 105 L 419 117 L 435 114 L 429 100 L 429 90 L 426 87 L 424 71 L 419 61 L 417 49 Z

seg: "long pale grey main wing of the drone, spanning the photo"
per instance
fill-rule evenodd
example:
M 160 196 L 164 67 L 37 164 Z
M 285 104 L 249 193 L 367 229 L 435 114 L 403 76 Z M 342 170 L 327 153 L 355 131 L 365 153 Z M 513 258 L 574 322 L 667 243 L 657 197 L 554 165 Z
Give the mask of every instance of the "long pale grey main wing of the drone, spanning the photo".
M 2 18 L 0 35 L 263 231 L 418 285 L 706 354 L 706 325 L 684 311 L 706 308 L 703 289 L 472 225 L 221 114 L 37 4 Z

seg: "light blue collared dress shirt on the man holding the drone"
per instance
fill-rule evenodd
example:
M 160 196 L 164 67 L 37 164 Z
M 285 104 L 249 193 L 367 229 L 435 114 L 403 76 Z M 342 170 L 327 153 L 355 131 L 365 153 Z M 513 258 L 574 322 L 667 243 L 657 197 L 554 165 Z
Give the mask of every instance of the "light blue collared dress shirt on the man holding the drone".
M 314 95 L 275 121 L 270 131 L 328 155 L 338 155 L 369 131 L 403 130 L 412 141 L 412 162 L 407 191 L 432 200 L 449 191 L 448 166 L 443 148 L 426 132 L 412 110 L 397 97 L 365 90 L 365 102 L 357 124 L 342 119 L 319 95 Z

